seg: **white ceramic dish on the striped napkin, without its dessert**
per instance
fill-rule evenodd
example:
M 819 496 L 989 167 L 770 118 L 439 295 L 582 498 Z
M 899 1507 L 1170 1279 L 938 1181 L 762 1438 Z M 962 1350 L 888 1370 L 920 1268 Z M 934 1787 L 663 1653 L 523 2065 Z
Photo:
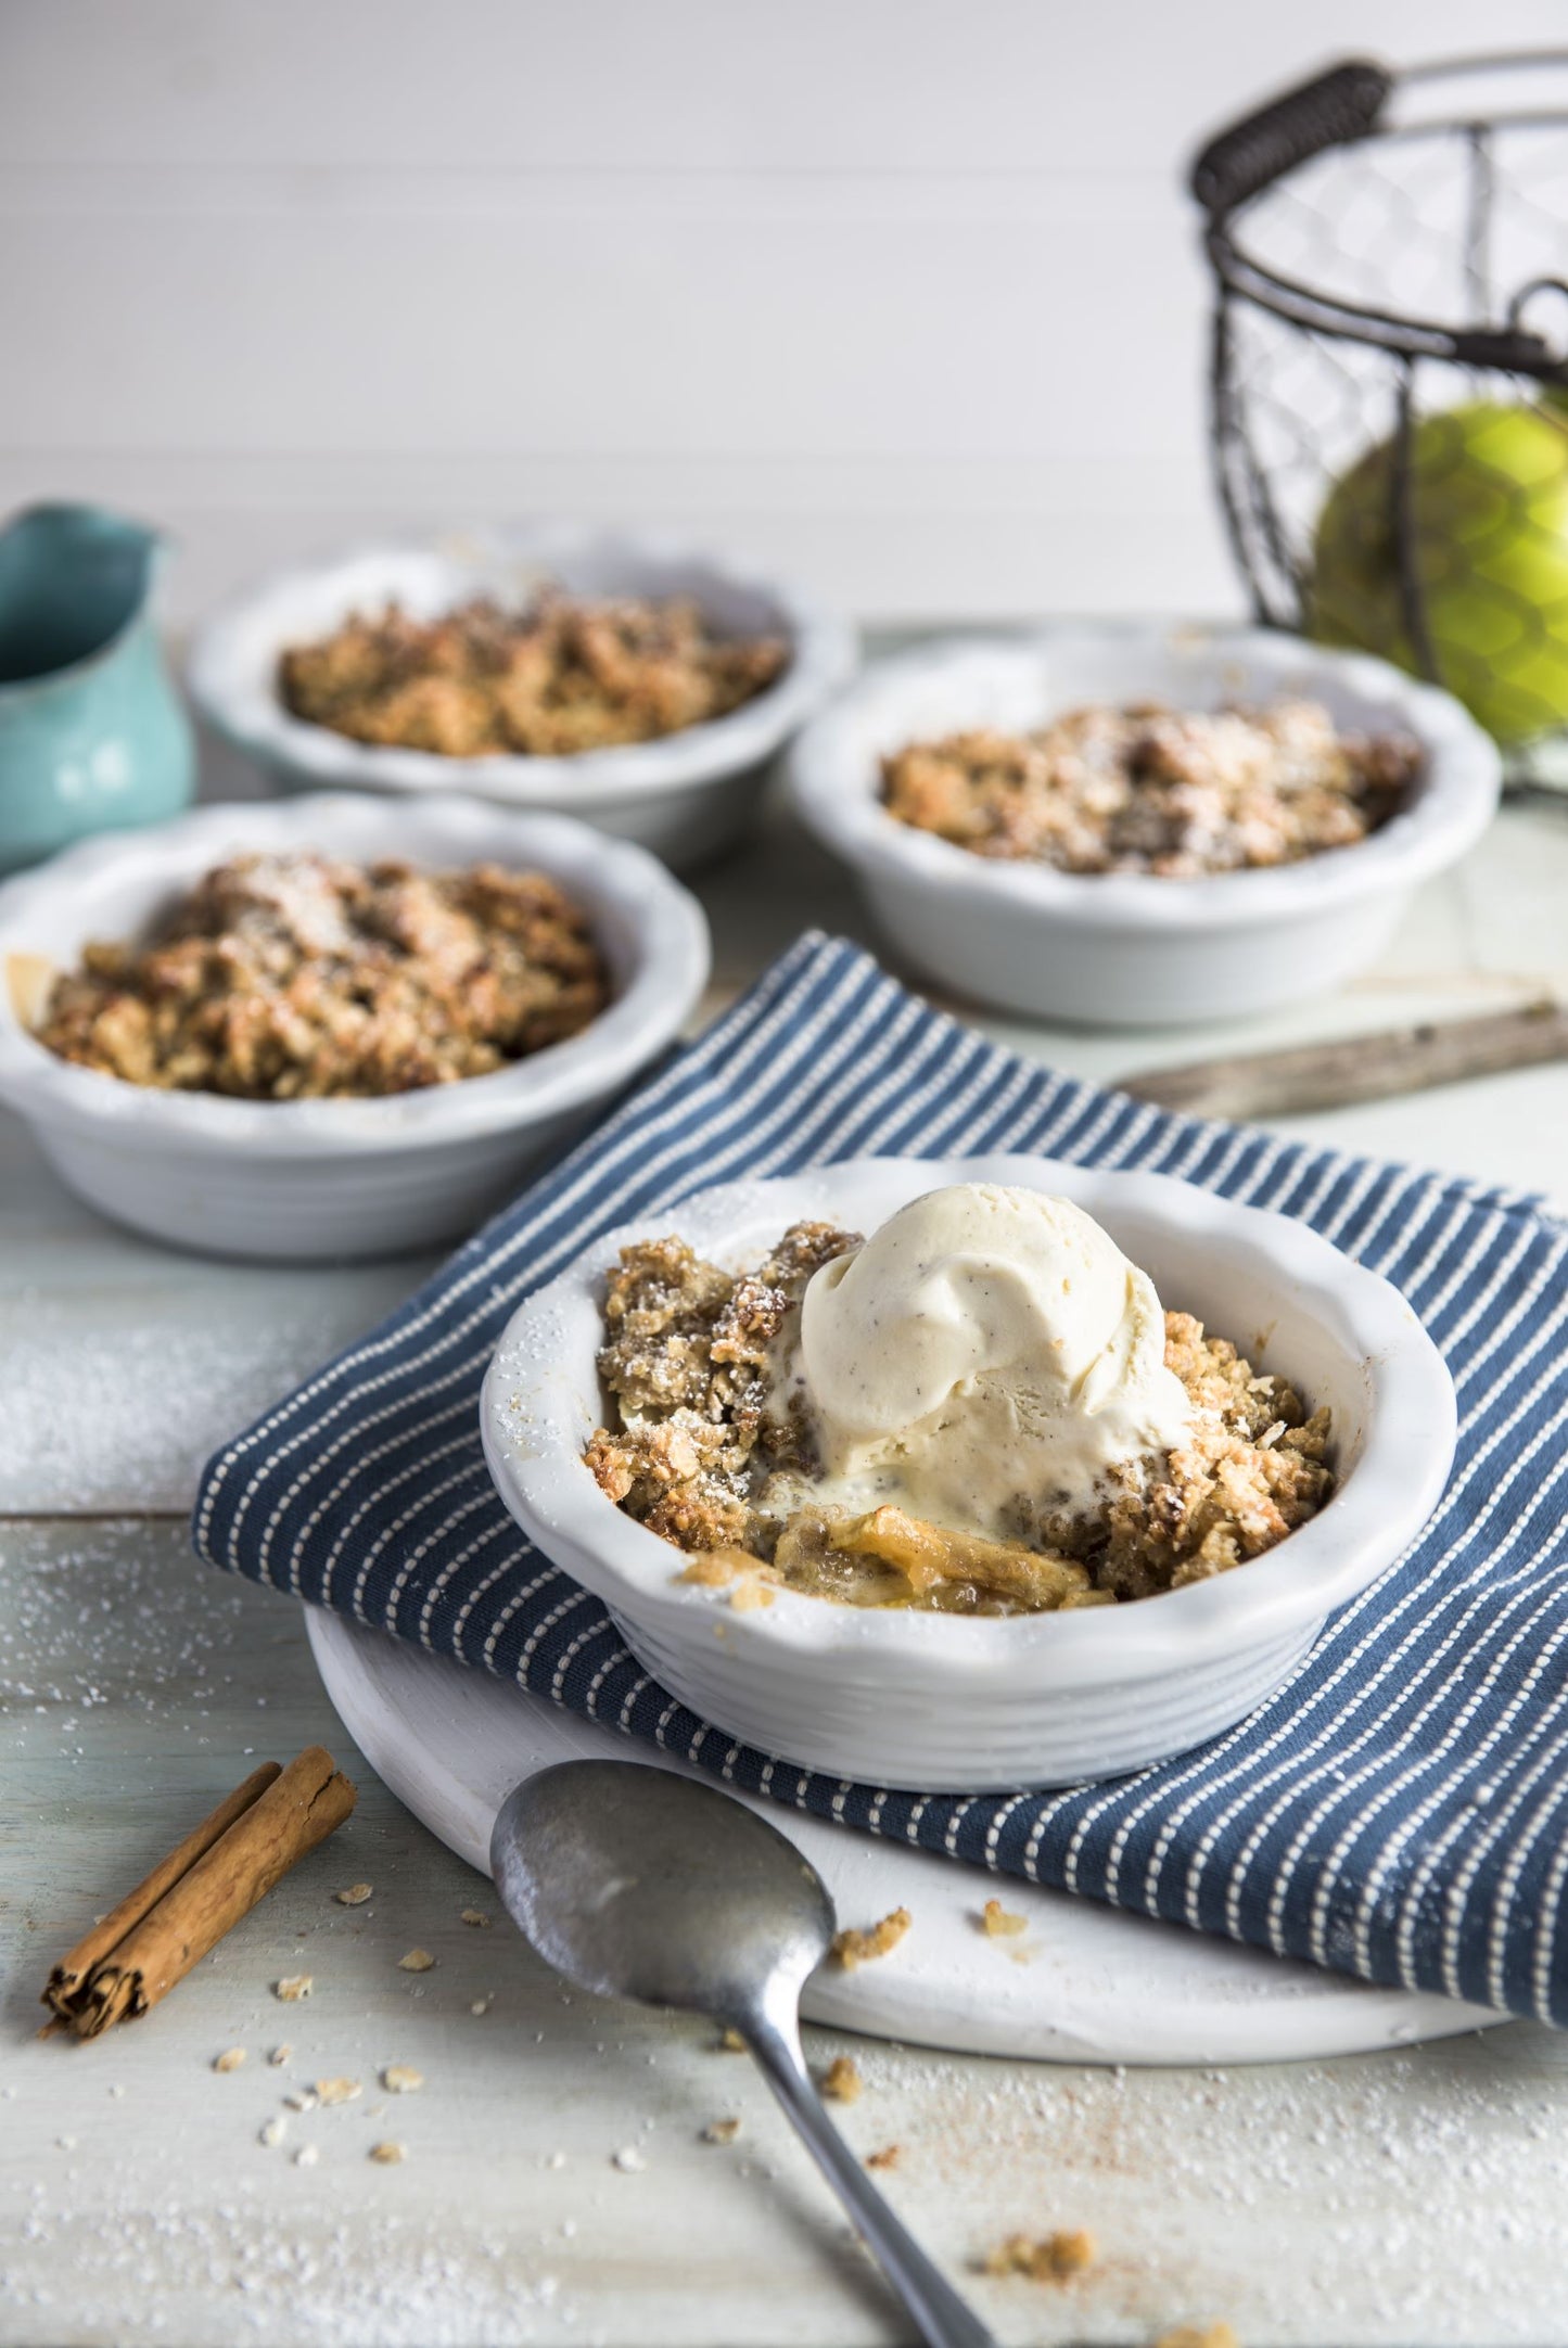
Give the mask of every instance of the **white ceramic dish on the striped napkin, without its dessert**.
M 1333 1409 L 1338 1491 L 1277 1550 L 1136 1606 L 958 1620 L 779 1590 L 737 1613 L 676 1580 L 681 1557 L 582 1465 L 603 1423 L 603 1273 L 678 1233 L 756 1261 L 800 1216 L 871 1230 L 948 1181 L 1056 1190 L 1094 1214 L 1167 1305 L 1253 1350 Z M 1437 1505 L 1455 1442 L 1448 1371 L 1404 1296 L 1284 1216 L 1160 1174 L 1045 1158 L 864 1158 L 728 1183 L 594 1242 L 507 1324 L 481 1399 L 495 1486 L 528 1538 L 610 1608 L 631 1653 L 704 1721 L 782 1761 L 960 1794 L 1113 1777 L 1218 1735 L 1258 1705 Z

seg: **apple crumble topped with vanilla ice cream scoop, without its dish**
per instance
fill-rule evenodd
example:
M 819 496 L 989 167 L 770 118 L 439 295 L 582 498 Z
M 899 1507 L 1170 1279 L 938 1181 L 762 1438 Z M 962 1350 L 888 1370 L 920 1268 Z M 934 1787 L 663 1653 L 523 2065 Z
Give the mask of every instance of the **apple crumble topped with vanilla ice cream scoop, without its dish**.
M 793 1223 L 744 1273 L 627 1247 L 599 1374 L 589 1470 L 739 1606 L 1113 1606 L 1261 1557 L 1333 1491 L 1329 1411 L 1038 1193 L 930 1193 L 871 1242 Z

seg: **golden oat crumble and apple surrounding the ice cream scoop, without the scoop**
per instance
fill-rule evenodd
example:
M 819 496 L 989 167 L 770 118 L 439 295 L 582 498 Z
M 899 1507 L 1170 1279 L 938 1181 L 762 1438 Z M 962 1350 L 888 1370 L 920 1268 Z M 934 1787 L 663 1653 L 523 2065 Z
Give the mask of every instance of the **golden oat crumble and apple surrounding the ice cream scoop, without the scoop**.
M 1094 1512 L 1035 1517 L 1019 1503 L 1007 1540 L 892 1505 L 777 1512 L 768 1479 L 810 1475 L 812 1442 L 798 1416 L 768 1411 L 775 1341 L 817 1266 L 857 1244 L 831 1223 L 796 1223 L 739 1275 L 678 1237 L 622 1249 L 599 1352 L 620 1425 L 599 1428 L 584 1460 L 610 1500 L 688 1554 L 683 1578 L 737 1585 L 751 1604 L 789 1585 L 939 1613 L 1110 1606 L 1228 1573 L 1331 1496 L 1329 1411 L 1253 1374 L 1190 1313 L 1167 1313 L 1164 1359 L 1195 1404 L 1190 1442 L 1117 1468 Z

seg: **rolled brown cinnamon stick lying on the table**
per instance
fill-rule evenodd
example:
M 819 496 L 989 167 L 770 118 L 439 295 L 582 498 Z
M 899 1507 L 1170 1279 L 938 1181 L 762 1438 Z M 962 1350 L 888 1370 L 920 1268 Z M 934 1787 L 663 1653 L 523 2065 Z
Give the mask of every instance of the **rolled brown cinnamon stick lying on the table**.
M 120 1907 L 52 1970 L 49 2029 L 96 2038 L 183 1982 L 296 1860 L 343 1824 L 354 1787 L 319 1745 L 268 1761 L 221 1801 Z

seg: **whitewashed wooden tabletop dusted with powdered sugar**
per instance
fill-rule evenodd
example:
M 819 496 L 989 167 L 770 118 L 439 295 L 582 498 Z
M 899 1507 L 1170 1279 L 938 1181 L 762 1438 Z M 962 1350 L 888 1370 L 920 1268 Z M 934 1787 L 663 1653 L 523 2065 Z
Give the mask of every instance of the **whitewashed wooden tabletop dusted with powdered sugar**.
M 209 789 L 244 789 L 209 761 Z M 786 824 L 702 883 L 725 1000 L 807 920 L 869 935 Z M 1568 815 L 1507 812 L 1385 963 L 1237 1031 L 1087 1038 L 984 1021 L 1115 1075 L 1228 1043 L 1502 1007 L 1568 986 Z M 1568 1068 L 1293 1120 L 1300 1134 L 1568 1205 Z M 761 2080 L 683 2019 L 570 1998 L 359 1766 L 298 1613 L 197 1568 L 202 1456 L 373 1322 L 420 1263 L 202 1263 L 99 1223 L 0 1118 L 0 2341 L 904 2339 Z M 59 1956 L 256 1759 L 326 1742 L 357 1815 L 146 2022 L 33 2038 Z M 331 1892 L 376 1885 L 357 1909 Z M 413 1944 L 432 1972 L 399 1970 Z M 303 2005 L 279 1975 L 312 1972 Z M 484 2005 L 484 2012 L 474 2008 Z M 286 2064 L 268 2052 L 291 2043 Z M 218 2076 L 225 2047 L 242 2069 Z M 829 2040 L 819 2033 L 819 2052 Z M 1568 2043 L 1530 2024 L 1293 2069 L 1127 2073 L 857 2045 L 861 2148 L 955 2271 L 1000 2233 L 1089 2226 L 1073 2289 L 974 2278 L 1002 2341 L 1568 2341 Z M 418 2094 L 378 2071 L 413 2064 Z M 352 2076 L 343 2109 L 282 2097 Z M 704 2123 L 739 2116 L 732 2146 Z M 406 2144 L 399 2167 L 369 2146 Z M 646 2165 L 617 2170 L 638 2146 Z M 298 2153 L 315 2148 L 315 2160 Z

